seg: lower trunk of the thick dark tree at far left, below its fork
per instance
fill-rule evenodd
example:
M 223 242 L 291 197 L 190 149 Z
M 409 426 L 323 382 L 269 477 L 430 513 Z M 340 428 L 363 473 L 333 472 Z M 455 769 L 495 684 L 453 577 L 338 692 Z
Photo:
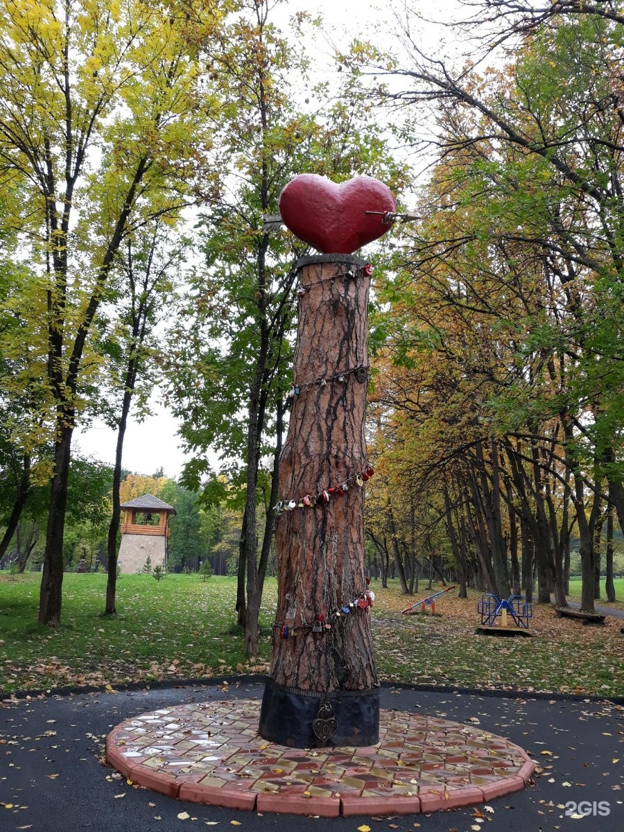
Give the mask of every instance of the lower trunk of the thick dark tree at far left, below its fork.
M 54 448 L 54 476 L 47 518 L 46 556 L 43 560 L 39 591 L 39 623 L 58 626 L 61 623 L 63 583 L 63 531 L 67 511 L 67 480 L 72 452 L 73 418 L 59 428 Z

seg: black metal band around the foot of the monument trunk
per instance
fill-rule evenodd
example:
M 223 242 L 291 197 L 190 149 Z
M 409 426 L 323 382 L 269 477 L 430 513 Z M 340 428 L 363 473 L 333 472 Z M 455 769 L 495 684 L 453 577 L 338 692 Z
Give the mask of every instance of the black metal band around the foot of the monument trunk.
M 324 702 L 333 711 L 329 720 L 323 718 L 327 716 L 321 710 Z M 269 679 L 258 730 L 265 740 L 291 748 L 374 745 L 379 742 L 379 688 L 318 693 Z

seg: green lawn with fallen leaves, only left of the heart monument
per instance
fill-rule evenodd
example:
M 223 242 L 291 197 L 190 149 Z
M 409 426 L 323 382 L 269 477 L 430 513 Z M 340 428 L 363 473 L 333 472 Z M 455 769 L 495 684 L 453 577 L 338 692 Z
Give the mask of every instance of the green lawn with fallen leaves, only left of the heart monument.
M 104 616 L 106 575 L 67 573 L 62 623 L 37 624 L 41 576 L 0 583 L 0 687 L 97 685 L 204 673 L 232 673 L 245 661 L 235 630 L 235 579 L 124 575 L 117 581 L 116 616 Z M 275 607 L 269 582 L 260 614 L 268 633 Z M 7 672 L 7 669 L 12 672 Z M 47 680 L 47 681 L 46 681 Z

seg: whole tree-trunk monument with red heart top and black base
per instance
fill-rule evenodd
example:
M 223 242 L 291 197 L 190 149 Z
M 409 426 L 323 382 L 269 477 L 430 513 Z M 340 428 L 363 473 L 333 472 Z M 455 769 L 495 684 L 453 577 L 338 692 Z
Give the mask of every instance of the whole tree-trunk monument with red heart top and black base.
M 370 273 L 352 252 L 384 234 L 396 204 L 368 176 L 341 186 L 305 174 L 280 196 L 290 230 L 324 254 L 305 257 L 290 426 L 275 507 L 278 605 L 265 739 L 307 748 L 379 739 L 379 682 L 364 574 Z

